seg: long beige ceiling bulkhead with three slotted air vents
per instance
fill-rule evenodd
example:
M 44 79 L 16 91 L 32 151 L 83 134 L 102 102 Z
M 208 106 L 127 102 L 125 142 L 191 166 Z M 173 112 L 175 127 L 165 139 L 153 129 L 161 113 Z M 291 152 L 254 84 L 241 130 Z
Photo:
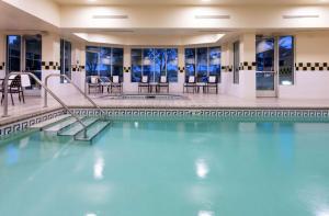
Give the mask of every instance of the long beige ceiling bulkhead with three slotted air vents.
M 93 19 L 93 15 L 127 15 L 128 19 Z M 230 15 L 230 19 L 196 19 L 195 15 Z M 283 19 L 283 15 L 319 18 Z M 65 29 L 300 29 L 329 27 L 329 7 L 61 7 Z

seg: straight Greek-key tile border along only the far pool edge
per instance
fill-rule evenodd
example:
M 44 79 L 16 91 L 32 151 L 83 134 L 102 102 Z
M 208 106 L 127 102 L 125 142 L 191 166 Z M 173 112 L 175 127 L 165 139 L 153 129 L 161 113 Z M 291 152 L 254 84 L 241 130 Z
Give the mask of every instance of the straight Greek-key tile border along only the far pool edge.
M 94 109 L 72 109 L 77 115 L 100 116 Z M 316 120 L 329 121 L 329 109 L 105 109 L 110 117 L 229 117 L 252 120 Z

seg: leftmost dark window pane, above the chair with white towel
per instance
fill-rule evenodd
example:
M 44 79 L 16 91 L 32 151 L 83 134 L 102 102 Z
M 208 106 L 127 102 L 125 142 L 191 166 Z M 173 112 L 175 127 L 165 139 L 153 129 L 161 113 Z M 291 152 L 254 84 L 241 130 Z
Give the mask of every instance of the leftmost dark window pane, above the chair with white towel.
M 7 36 L 7 71 L 21 70 L 22 37 L 20 35 Z

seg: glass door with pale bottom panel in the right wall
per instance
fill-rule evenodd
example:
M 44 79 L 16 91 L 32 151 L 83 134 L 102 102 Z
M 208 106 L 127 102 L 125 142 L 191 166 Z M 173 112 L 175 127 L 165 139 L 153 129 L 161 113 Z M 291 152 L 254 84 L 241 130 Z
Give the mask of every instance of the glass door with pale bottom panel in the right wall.
M 256 39 L 257 96 L 276 96 L 277 41 L 274 37 Z

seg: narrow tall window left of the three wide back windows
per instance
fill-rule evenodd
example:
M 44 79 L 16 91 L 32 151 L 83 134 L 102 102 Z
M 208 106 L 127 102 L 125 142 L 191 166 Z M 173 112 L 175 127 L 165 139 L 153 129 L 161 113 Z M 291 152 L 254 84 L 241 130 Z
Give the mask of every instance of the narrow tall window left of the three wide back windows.
M 60 39 L 60 73 L 71 78 L 71 43 L 65 39 Z

